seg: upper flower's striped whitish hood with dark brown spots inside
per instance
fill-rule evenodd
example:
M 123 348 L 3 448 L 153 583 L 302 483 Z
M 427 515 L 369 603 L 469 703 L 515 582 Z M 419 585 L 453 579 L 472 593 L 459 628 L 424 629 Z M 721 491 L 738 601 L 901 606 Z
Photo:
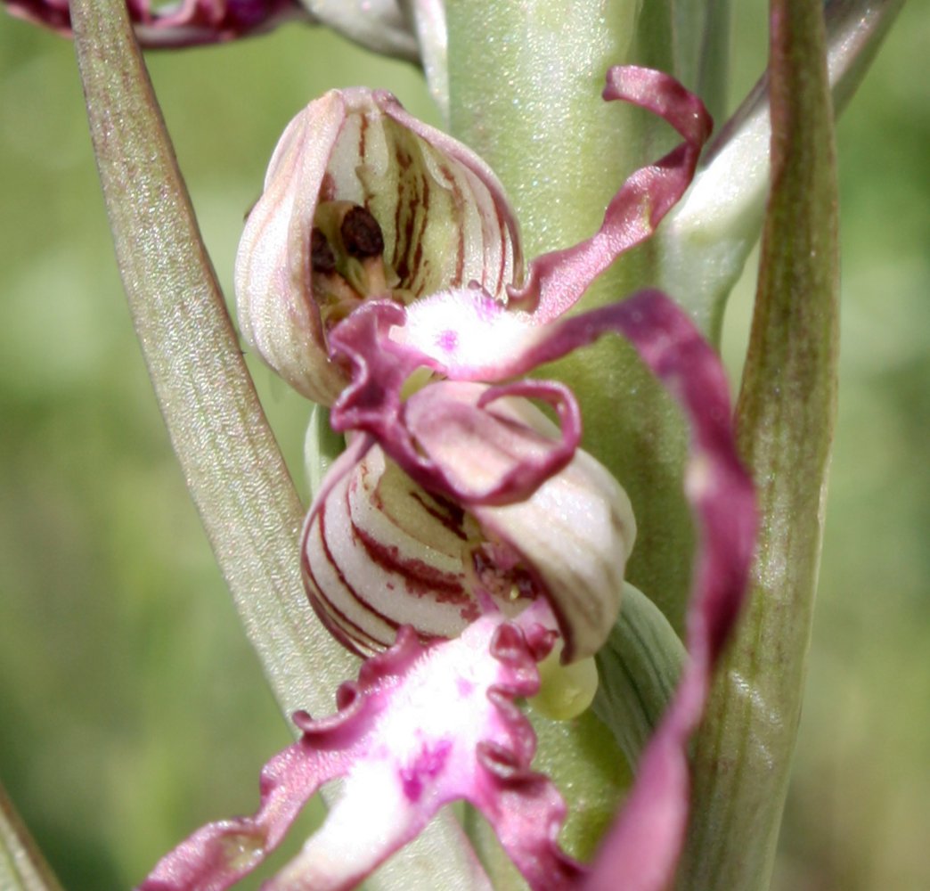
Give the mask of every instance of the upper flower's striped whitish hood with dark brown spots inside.
M 287 126 L 236 258 L 243 337 L 330 405 L 348 381 L 328 332 L 365 299 L 409 303 L 472 281 L 503 299 L 522 279 L 498 181 L 383 91 L 332 91 Z

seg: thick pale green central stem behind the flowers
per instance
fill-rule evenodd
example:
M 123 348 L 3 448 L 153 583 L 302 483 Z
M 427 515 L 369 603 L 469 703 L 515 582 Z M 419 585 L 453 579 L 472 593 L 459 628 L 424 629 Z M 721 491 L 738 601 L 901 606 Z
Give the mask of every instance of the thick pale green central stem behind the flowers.
M 446 4 L 452 132 L 503 181 L 527 257 L 589 237 L 623 180 L 675 141 L 649 114 L 601 99 L 612 65 L 671 68 L 671 5 L 646 6 L 641 22 L 633 0 Z M 582 308 L 649 284 L 653 263 L 648 249 L 634 251 L 601 276 Z M 677 408 L 617 338 L 541 373 L 578 394 L 584 446 L 624 485 L 636 514 L 628 576 L 680 630 L 693 537 Z

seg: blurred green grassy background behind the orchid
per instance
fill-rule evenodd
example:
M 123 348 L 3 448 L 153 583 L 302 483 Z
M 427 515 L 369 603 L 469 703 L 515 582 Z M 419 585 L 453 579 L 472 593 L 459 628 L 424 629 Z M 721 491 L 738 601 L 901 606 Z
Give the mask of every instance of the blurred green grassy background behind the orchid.
M 928 35 L 911 3 L 839 129 L 840 423 L 778 891 L 930 886 Z M 764 40 L 762 7 L 739 7 L 734 101 Z M 308 100 L 385 86 L 436 120 L 411 68 L 301 26 L 149 62 L 227 293 L 246 208 Z M 0 778 L 67 888 L 125 888 L 195 826 L 254 809 L 289 737 L 134 342 L 73 47 L 11 19 L 0 194 Z M 748 277 L 735 374 L 750 306 Z M 255 373 L 297 462 L 307 408 Z

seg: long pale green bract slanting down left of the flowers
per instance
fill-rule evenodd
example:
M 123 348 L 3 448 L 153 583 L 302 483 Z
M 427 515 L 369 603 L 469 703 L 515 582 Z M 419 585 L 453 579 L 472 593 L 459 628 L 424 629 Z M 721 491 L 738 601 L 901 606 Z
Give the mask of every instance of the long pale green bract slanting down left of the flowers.
M 303 507 L 248 375 L 122 0 L 75 0 L 75 46 L 133 324 L 185 481 L 282 711 L 328 714 L 358 662 L 313 617 Z M 258 769 L 256 771 L 258 774 Z M 373 888 L 488 887 L 440 818 Z

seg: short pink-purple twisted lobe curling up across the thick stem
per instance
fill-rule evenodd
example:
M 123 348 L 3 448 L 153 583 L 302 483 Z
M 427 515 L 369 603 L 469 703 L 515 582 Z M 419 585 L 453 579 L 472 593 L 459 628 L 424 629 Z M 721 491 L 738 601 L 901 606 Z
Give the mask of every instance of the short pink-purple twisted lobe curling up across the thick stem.
M 694 179 L 713 122 L 704 103 L 671 74 L 620 65 L 607 71 L 604 100 L 620 100 L 657 114 L 684 142 L 624 181 L 586 241 L 534 259 L 525 283 L 509 289 L 512 306 L 549 322 L 566 313 L 615 259 L 648 238 Z

